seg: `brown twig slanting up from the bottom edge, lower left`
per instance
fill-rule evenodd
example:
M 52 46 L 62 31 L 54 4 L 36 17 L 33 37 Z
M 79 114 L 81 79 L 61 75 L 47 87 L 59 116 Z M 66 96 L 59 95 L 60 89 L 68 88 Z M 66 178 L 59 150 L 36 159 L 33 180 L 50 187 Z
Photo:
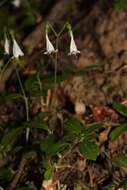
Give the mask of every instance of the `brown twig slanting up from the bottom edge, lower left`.
M 18 183 L 18 181 L 19 181 L 19 179 L 20 179 L 20 177 L 21 177 L 21 175 L 23 173 L 25 164 L 26 164 L 26 160 L 24 158 L 22 158 L 22 160 L 21 160 L 21 162 L 19 164 L 18 171 L 17 171 L 13 181 L 11 182 L 10 188 L 8 190 L 15 189 L 15 187 L 16 187 L 16 185 L 17 185 L 17 183 Z

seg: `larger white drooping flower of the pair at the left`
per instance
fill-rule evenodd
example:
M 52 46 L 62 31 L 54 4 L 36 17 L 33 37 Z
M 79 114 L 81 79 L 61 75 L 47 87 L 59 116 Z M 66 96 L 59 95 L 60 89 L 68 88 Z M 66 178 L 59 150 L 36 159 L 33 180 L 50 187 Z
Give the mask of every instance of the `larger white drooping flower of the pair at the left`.
M 17 44 L 16 40 L 13 38 L 13 56 L 14 58 L 19 58 L 19 56 L 24 56 L 24 53 L 20 49 L 19 45 Z

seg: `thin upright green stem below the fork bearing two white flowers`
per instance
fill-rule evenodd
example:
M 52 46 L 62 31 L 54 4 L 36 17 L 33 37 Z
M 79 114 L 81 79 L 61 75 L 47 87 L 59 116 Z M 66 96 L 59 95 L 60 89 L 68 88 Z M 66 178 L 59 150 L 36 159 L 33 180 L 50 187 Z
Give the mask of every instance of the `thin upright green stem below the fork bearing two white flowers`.
M 59 41 L 59 36 L 57 35 L 56 37 L 56 50 L 58 50 L 58 41 Z M 58 51 L 56 51 L 56 56 L 55 56 L 55 70 L 54 70 L 54 119 L 56 123 L 56 85 L 57 85 L 57 62 L 58 62 Z

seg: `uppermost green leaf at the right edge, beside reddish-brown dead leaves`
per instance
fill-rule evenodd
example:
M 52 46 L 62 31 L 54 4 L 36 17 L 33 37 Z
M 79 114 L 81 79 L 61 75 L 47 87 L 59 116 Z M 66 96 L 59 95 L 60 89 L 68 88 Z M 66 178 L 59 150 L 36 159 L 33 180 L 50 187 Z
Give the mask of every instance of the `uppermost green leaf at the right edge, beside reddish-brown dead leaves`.
M 122 104 L 114 103 L 112 107 L 122 116 L 127 118 L 127 107 Z

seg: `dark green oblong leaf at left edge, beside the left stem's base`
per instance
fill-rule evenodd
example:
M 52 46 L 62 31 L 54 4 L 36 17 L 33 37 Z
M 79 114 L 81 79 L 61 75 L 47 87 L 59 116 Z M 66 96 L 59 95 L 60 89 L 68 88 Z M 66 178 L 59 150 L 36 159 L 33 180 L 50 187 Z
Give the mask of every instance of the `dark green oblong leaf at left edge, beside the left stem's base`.
M 22 133 L 23 133 L 23 127 L 11 129 L 2 138 L 1 145 L 4 148 L 7 148 L 8 146 L 9 147 L 13 146 L 15 141 L 19 138 L 19 136 L 21 136 Z

